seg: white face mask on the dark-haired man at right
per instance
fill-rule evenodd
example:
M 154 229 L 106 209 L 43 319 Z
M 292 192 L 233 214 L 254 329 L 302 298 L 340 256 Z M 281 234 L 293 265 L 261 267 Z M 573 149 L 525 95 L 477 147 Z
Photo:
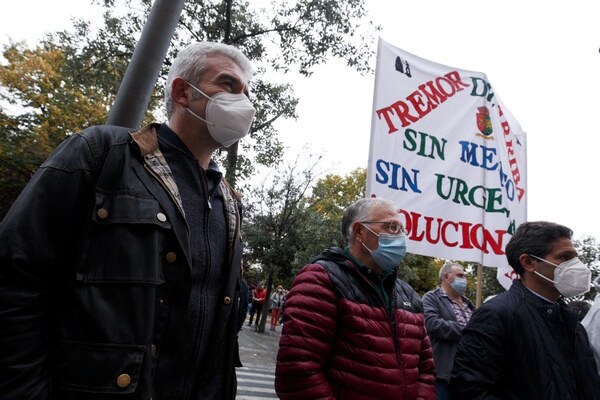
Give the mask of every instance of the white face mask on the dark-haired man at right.
M 554 280 L 546 278 L 537 271 L 533 271 L 536 275 L 541 276 L 545 280 L 554 283 L 556 290 L 565 297 L 580 296 L 590 291 L 592 282 L 592 271 L 581 262 L 577 257 L 565 261 L 560 265 L 551 263 L 543 258 L 536 257 L 530 254 L 531 257 L 540 261 L 544 261 L 550 265 L 554 265 Z

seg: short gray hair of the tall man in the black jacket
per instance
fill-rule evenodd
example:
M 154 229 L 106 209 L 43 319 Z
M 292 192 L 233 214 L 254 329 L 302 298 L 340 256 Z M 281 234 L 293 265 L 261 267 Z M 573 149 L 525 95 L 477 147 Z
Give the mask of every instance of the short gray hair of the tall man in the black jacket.
M 173 64 L 171 64 L 171 68 L 169 69 L 169 75 L 167 76 L 167 82 L 165 83 L 165 107 L 169 118 L 173 113 L 173 98 L 171 97 L 173 80 L 179 77 L 196 85 L 199 77 L 207 68 L 206 60 L 208 56 L 214 54 L 221 54 L 230 58 L 242 69 L 246 78 L 249 78 L 254 73 L 254 67 L 248 57 L 236 47 L 215 42 L 196 42 L 190 44 L 181 50 L 173 60 Z

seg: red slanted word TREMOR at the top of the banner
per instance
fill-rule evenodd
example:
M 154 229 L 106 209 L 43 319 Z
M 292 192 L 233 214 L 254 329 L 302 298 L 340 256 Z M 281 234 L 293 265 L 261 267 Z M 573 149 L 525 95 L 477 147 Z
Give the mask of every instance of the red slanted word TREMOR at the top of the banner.
M 383 118 L 385 120 L 388 133 L 394 133 L 398 130 L 394 116 L 396 116 L 395 119 L 400 120 L 401 127 L 405 128 L 469 86 L 468 83 L 461 80 L 458 71 L 452 71 L 419 85 L 419 90 L 409 94 L 405 101 L 398 100 L 388 107 L 376 110 L 375 113 L 379 119 Z

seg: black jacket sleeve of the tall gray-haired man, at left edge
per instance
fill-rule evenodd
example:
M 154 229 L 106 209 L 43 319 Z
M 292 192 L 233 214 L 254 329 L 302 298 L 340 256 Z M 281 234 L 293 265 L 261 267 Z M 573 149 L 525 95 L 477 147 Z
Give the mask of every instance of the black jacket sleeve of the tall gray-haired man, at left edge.
M 93 157 L 73 135 L 34 174 L 0 223 L 0 393 L 41 399 L 50 390 L 52 282 L 74 257 L 74 222 L 91 203 Z M 92 199 L 93 200 L 93 199 Z M 81 218 L 79 218 L 81 219 Z

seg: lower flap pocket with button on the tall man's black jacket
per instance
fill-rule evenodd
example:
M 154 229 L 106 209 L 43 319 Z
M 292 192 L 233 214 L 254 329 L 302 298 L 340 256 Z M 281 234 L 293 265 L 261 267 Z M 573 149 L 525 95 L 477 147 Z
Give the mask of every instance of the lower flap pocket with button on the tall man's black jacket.
M 62 342 L 55 358 L 53 384 L 61 391 L 134 393 L 144 350 L 144 346 L 125 344 Z

